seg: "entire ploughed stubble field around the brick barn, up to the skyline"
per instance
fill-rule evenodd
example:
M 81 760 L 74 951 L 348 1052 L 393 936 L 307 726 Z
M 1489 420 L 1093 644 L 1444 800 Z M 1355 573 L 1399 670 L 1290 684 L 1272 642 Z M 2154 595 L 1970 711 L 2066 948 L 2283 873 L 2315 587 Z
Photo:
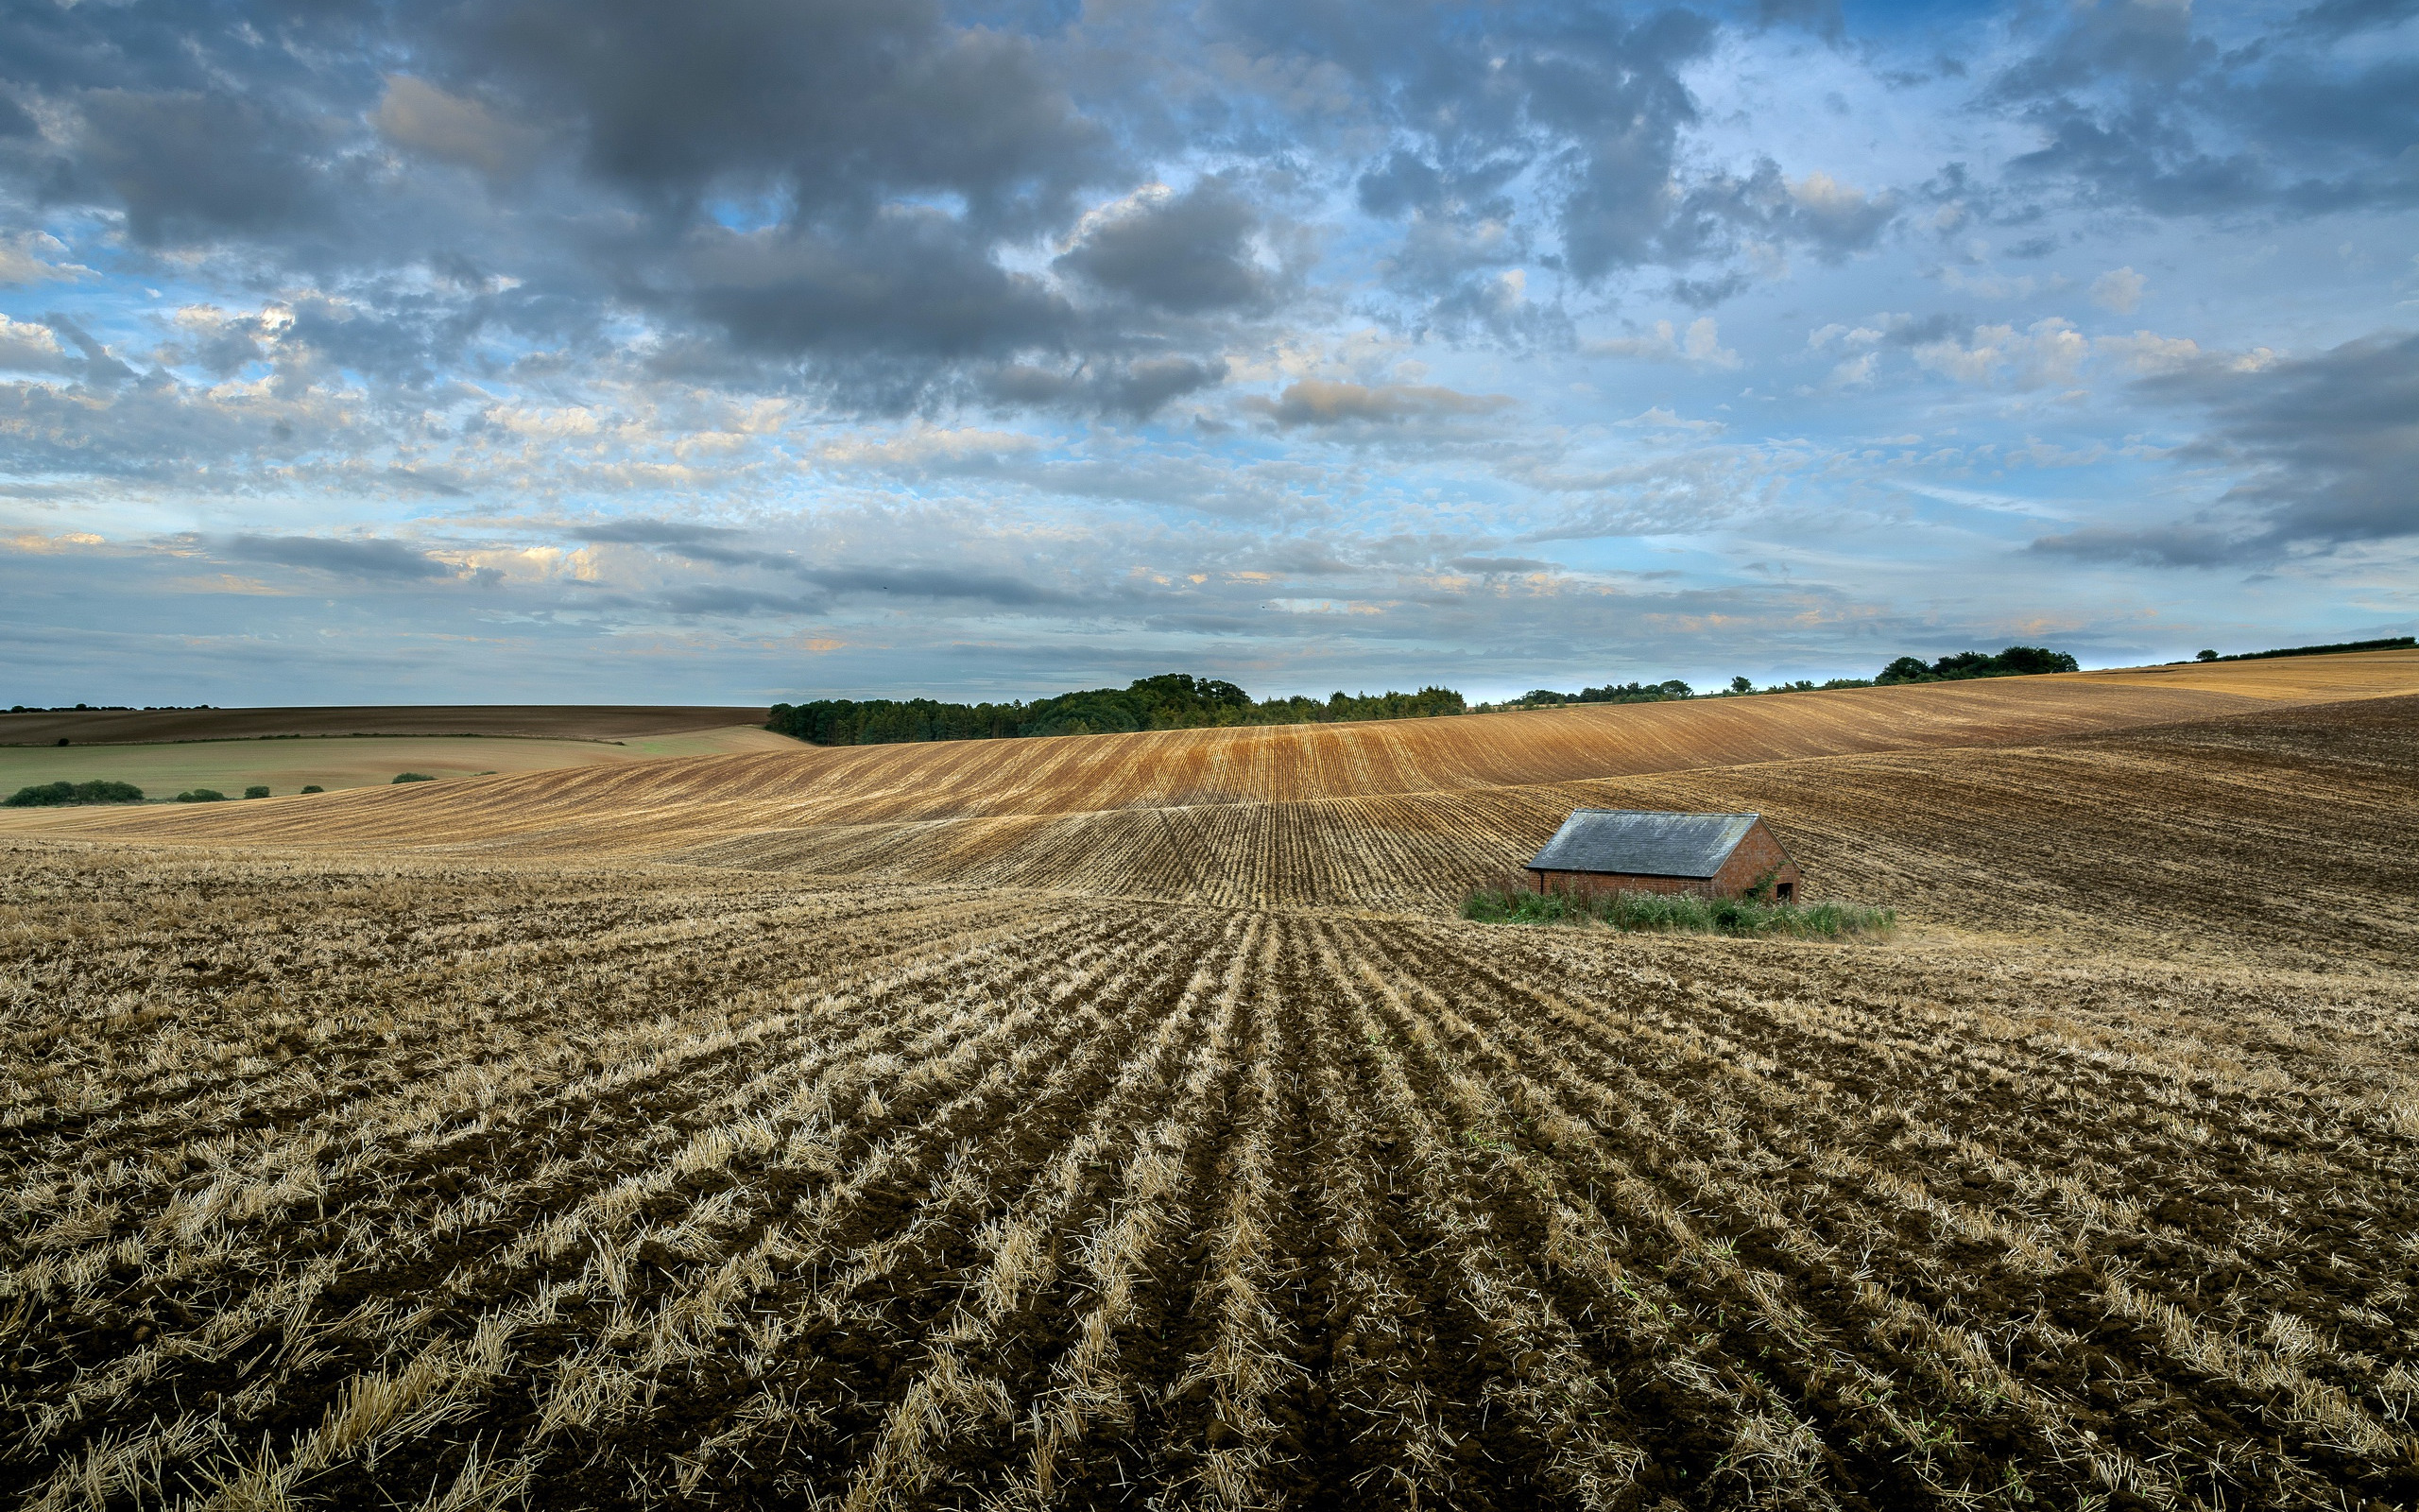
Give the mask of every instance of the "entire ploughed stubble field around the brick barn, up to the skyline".
M 2414 694 L 2383 653 L 12 815 L 0 1485 L 2412 1505 Z M 1901 929 L 1451 917 L 1577 803 L 1759 808 Z

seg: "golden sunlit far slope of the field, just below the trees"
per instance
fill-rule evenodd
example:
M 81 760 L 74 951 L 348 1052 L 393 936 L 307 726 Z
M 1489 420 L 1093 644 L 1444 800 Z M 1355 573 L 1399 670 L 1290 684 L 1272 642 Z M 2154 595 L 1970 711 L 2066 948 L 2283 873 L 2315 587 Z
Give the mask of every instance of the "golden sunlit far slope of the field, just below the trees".
M 1052 878 L 1076 878 L 1033 849 L 1045 844 L 1028 839 L 1038 837 L 1040 820 L 1122 815 L 1103 818 L 1089 839 L 1069 844 L 1151 852 L 1156 835 L 1205 873 L 1241 876 L 1248 864 L 1229 866 L 1226 844 L 1246 852 L 1275 844 L 1246 842 L 1241 832 L 1226 839 L 1222 825 L 1263 823 L 1253 806 L 1401 798 L 1420 808 L 1459 796 L 1449 803 L 1454 815 L 1488 803 L 1526 813 L 1565 796 L 1480 793 L 1846 755 L 2010 748 L 2407 692 L 2419 692 L 2419 653 L 2388 651 L 1384 723 L 791 748 L 269 798 L 242 808 L 65 810 L 5 823 L 203 844 L 747 854 L 842 873 L 864 868 L 864 854 L 883 856 L 888 873 L 907 866 L 902 856 L 922 854 L 934 881 L 960 881 L 965 866 L 1006 856 L 999 864 L 1018 883 L 1060 885 Z M 924 830 L 895 830 L 900 825 Z M 1488 830 L 1466 818 L 1425 827 Z M 1522 818 L 1512 832 L 1529 827 Z M 1502 844 L 1490 854 L 1502 854 Z

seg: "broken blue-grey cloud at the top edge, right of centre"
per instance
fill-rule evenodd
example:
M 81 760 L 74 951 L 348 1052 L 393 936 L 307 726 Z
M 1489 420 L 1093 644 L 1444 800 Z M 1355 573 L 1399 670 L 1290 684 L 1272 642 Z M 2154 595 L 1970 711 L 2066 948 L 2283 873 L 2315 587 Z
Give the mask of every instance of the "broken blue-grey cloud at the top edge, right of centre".
M 1819 0 L 1766 12 L 1763 24 L 1836 29 L 1836 7 Z M 1345 5 L 1222 15 L 1260 46 L 1318 51 L 1362 73 L 1396 140 L 1355 179 L 1357 201 L 1405 225 L 1389 278 L 1447 334 L 1522 334 L 1488 310 L 1485 281 L 1509 264 L 1536 261 L 1594 288 L 1640 266 L 1722 264 L 1744 242 L 1836 259 L 1872 247 L 1894 215 L 1884 194 L 1788 184 L 1771 162 L 1747 177 L 1684 167 L 1698 104 L 1681 75 L 1717 36 L 1693 10 L 1505 5 L 1444 24 Z M 1684 271 L 1674 293 L 1705 307 L 1744 285 L 1747 276 L 1713 266 Z

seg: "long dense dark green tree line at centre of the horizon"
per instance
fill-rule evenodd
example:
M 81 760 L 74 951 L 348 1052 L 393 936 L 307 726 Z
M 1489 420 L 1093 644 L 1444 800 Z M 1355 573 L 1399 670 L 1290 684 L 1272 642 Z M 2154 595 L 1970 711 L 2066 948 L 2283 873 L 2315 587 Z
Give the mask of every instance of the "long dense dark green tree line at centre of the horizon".
M 1449 687 L 1362 694 L 1335 689 L 1326 699 L 1299 694 L 1253 699 L 1219 677 L 1164 673 L 1137 677 L 1127 687 L 1091 687 L 1030 704 L 943 704 L 939 699 L 774 704 L 764 728 L 810 745 L 902 745 L 917 740 L 1006 740 L 1011 735 L 1120 735 L 1355 719 L 1434 719 L 1463 711 L 1461 694 Z

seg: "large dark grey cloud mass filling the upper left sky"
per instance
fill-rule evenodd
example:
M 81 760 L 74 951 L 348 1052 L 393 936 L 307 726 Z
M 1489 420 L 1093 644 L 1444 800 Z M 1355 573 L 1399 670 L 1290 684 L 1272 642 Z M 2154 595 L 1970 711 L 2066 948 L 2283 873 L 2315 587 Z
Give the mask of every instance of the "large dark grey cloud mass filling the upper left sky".
M 295 334 L 360 373 L 428 382 L 481 329 L 578 339 L 610 298 L 689 373 L 803 368 L 885 409 L 968 363 L 1166 346 L 1001 266 L 1135 179 L 1014 24 L 919 0 L 48 10 L 0 15 L 0 77 L 63 135 L 0 138 L 0 184 L 123 213 L 145 247 L 474 273 L 348 290 L 341 329 Z M 194 358 L 254 360 L 232 334 Z

